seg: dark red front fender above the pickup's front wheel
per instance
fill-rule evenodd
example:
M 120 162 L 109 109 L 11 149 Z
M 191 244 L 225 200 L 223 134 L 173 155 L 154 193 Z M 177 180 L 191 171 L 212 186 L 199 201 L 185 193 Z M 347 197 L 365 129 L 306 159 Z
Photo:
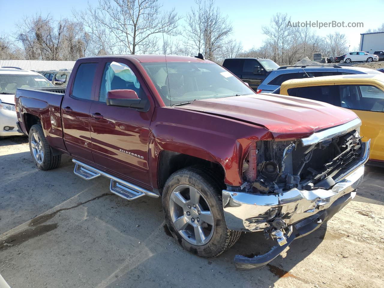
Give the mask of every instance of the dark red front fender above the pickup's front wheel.
M 157 171 L 163 150 L 194 156 L 220 164 L 225 171 L 225 184 L 240 186 L 242 162 L 253 140 L 273 139 L 270 131 L 241 121 L 220 116 L 159 107 L 151 123 L 150 171 Z M 152 185 L 157 175 L 151 175 Z

